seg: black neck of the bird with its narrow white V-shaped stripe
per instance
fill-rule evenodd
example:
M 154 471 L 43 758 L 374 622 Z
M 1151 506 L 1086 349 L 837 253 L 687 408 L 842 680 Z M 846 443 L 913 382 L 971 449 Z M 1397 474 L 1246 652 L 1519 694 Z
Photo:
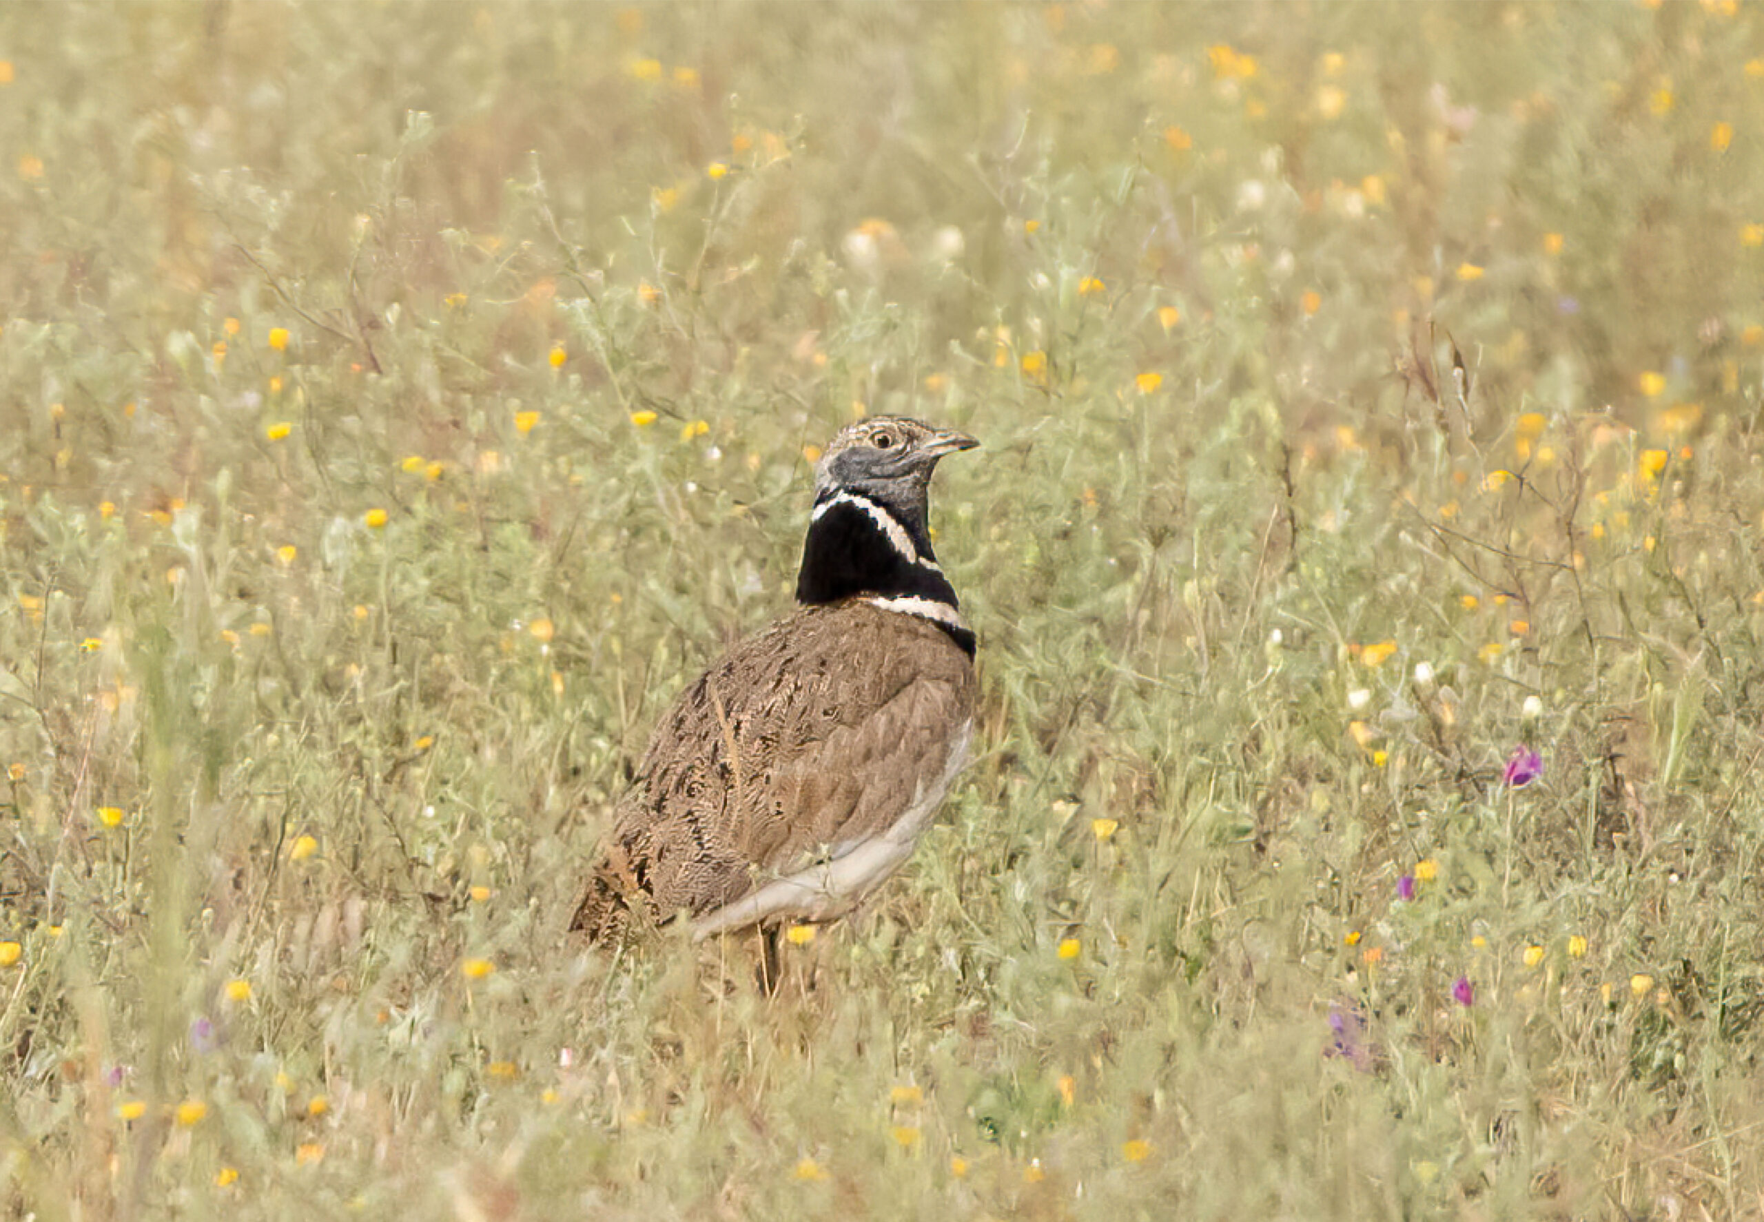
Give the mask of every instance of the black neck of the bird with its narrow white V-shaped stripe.
M 961 603 L 937 568 L 923 524 L 914 517 L 901 518 L 870 497 L 836 488 L 822 492 L 803 540 L 796 601 L 813 607 L 868 594 L 924 598 L 956 610 Z M 974 633 L 937 622 L 972 651 Z

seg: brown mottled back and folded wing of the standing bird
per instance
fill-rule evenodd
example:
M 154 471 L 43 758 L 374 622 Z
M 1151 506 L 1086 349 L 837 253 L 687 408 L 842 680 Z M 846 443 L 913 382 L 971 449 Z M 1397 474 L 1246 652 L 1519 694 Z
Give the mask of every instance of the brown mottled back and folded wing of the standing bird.
M 972 659 L 926 619 L 863 600 L 780 619 L 663 714 L 572 928 L 702 917 L 886 832 L 949 771 L 974 695 Z

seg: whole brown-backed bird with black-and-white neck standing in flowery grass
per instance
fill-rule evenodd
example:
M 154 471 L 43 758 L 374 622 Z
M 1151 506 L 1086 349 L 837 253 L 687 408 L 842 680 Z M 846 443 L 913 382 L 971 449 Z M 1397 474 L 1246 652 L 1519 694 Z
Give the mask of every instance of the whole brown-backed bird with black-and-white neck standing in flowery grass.
M 912 855 L 968 758 L 977 638 L 931 550 L 930 483 L 979 443 L 907 416 L 815 464 L 799 607 L 662 714 L 570 922 L 693 942 L 834 920 Z M 767 954 L 771 959 L 771 952 Z

